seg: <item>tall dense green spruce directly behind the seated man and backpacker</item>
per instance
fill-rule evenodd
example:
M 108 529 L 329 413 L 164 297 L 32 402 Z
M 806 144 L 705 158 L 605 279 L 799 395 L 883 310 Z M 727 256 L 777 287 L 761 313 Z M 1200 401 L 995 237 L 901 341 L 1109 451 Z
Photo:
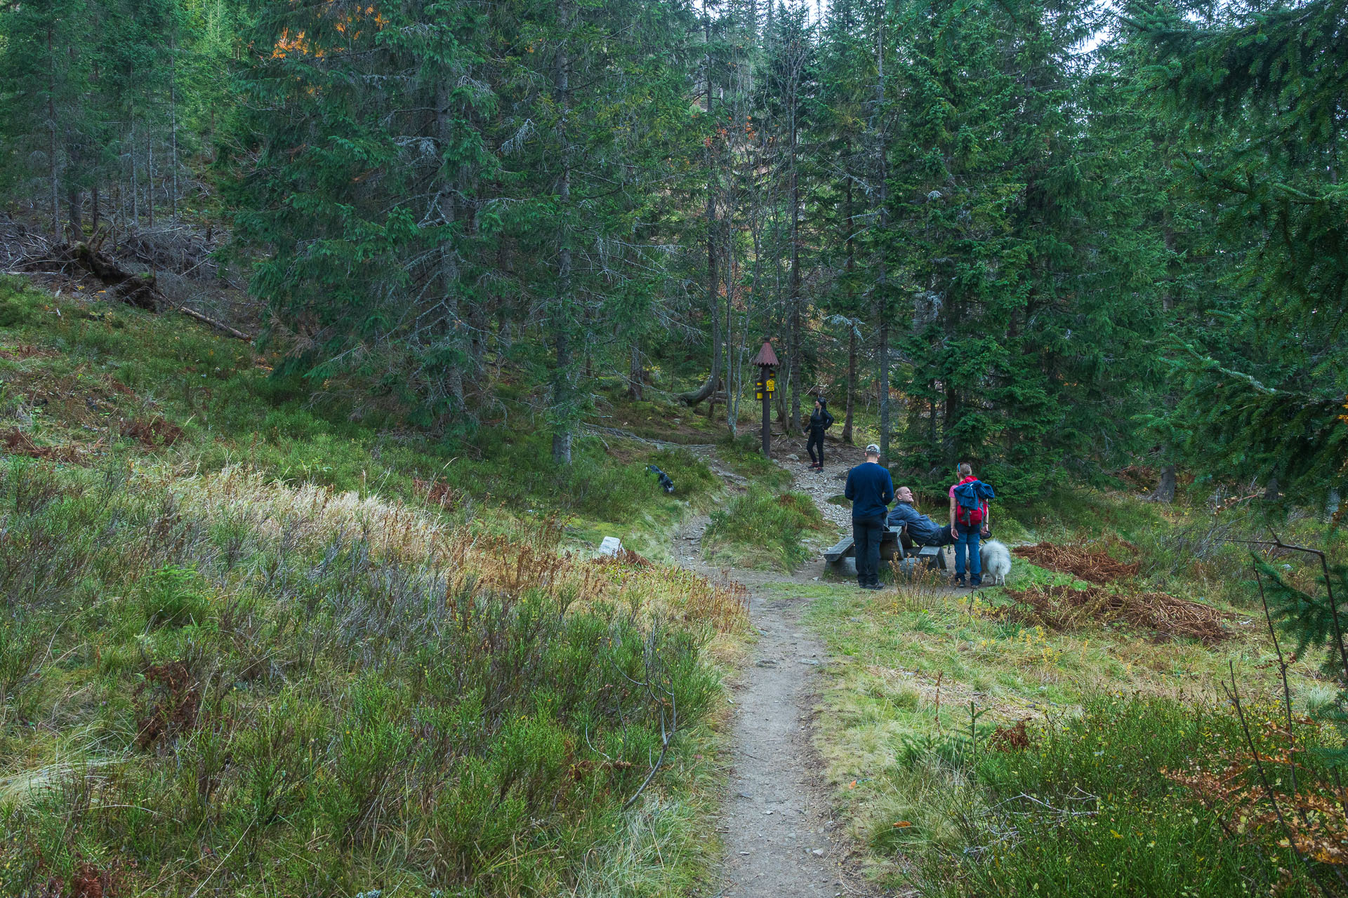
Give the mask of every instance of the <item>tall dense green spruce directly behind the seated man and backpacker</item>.
M 1091 133 L 1084 5 L 911 4 L 895 67 L 892 244 L 909 295 L 907 463 L 971 460 L 1007 494 L 1089 473 L 1131 429 L 1111 357 L 1139 351 L 1151 254 Z M 1132 240 L 1127 234 L 1124 241 Z M 1120 369 L 1122 370 L 1122 369 Z

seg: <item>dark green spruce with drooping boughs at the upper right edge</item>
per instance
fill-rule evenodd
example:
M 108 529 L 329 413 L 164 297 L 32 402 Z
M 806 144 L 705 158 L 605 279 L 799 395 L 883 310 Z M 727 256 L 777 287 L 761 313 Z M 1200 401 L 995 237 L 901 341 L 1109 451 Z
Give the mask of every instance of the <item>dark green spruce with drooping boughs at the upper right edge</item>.
M 1200 470 L 1316 505 L 1348 475 L 1345 13 L 1318 0 L 1225 7 L 1202 26 L 1169 5 L 1130 18 L 1233 260 L 1171 343 L 1170 420 Z

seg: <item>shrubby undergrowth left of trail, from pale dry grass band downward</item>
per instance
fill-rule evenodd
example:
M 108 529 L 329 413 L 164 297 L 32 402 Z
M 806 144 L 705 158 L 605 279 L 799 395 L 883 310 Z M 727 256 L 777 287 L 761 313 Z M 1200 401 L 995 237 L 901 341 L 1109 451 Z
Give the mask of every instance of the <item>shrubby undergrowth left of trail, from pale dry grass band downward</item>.
M 733 590 L 239 467 L 11 459 L 0 509 L 0 893 L 696 875 Z

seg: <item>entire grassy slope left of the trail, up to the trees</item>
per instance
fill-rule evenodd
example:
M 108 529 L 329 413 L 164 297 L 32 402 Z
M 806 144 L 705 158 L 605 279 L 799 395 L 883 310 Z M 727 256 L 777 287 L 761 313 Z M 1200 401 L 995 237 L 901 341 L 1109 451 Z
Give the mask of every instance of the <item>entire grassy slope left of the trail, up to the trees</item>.
M 561 549 L 659 553 L 696 458 L 450 455 L 13 281 L 0 327 L 0 893 L 686 894 L 740 598 Z

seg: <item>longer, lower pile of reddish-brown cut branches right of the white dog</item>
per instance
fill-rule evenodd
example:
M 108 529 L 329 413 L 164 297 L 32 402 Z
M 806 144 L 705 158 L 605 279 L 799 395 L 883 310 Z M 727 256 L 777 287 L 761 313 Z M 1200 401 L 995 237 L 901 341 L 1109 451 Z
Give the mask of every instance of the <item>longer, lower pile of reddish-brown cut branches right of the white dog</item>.
M 1034 586 L 1008 591 L 1016 605 L 1006 617 L 1051 630 L 1076 630 L 1092 623 L 1128 623 L 1184 635 L 1212 645 L 1231 634 L 1221 625 L 1225 615 L 1212 606 L 1167 592 L 1122 592 L 1103 587 L 1074 590 L 1070 586 Z

